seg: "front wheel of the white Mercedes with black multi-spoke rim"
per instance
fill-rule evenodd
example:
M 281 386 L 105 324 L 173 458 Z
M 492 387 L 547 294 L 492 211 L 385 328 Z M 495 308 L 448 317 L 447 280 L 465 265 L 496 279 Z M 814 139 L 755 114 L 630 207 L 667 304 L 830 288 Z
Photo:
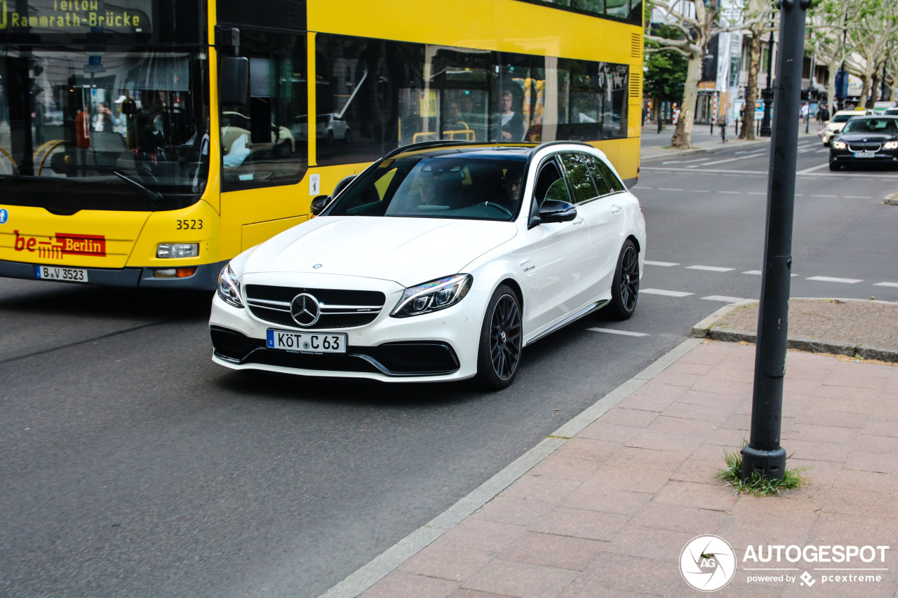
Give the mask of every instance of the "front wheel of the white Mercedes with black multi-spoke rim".
M 521 363 L 524 334 L 521 303 L 509 286 L 500 285 L 487 305 L 477 352 L 478 386 L 487 391 L 506 388 Z

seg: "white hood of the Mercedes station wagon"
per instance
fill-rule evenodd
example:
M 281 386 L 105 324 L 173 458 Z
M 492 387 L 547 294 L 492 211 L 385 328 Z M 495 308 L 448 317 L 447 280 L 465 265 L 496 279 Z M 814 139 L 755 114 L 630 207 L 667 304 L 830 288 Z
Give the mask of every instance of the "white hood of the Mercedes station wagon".
M 321 216 L 262 243 L 243 272 L 339 274 L 413 286 L 459 273 L 516 231 L 510 222 Z

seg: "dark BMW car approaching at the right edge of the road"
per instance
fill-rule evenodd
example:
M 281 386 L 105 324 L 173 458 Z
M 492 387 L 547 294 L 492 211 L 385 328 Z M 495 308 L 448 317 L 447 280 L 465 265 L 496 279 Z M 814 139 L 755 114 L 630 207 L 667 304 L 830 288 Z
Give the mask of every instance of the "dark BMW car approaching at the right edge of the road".
M 898 166 L 898 117 L 855 117 L 830 144 L 830 170 L 845 164 Z

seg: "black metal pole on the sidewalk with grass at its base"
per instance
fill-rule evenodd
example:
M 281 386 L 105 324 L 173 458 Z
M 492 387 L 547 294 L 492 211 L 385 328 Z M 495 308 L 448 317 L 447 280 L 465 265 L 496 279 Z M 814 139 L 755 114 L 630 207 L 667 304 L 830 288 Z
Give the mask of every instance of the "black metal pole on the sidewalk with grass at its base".
M 779 57 L 767 182 L 767 235 L 754 357 L 752 431 L 742 449 L 742 478 L 760 471 L 765 479 L 786 473 L 779 445 L 783 378 L 786 375 L 788 295 L 792 268 L 792 218 L 798 154 L 798 108 L 805 47 L 805 16 L 811 0 L 779 0 Z

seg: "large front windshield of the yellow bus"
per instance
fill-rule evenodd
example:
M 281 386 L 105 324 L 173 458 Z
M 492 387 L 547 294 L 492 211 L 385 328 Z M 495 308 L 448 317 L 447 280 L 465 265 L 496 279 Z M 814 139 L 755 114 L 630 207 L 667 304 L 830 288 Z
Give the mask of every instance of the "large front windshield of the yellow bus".
M 4 186 L 4 203 L 58 201 L 49 191 L 62 184 L 74 209 L 196 196 L 208 163 L 204 64 L 193 49 L 0 47 L 0 176 L 21 183 Z

